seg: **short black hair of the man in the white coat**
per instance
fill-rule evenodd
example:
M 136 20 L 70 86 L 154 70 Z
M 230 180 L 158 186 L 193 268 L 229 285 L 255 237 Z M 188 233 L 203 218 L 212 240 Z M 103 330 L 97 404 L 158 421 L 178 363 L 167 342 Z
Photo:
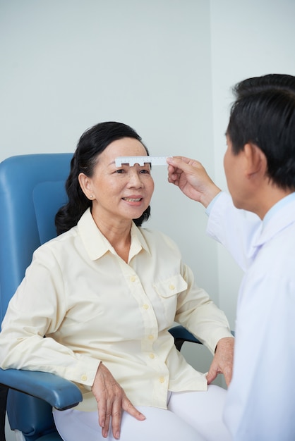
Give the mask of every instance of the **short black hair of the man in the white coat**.
M 295 190 L 295 77 L 270 74 L 234 87 L 227 136 L 234 154 L 255 144 L 267 159 L 267 175 L 278 187 Z

